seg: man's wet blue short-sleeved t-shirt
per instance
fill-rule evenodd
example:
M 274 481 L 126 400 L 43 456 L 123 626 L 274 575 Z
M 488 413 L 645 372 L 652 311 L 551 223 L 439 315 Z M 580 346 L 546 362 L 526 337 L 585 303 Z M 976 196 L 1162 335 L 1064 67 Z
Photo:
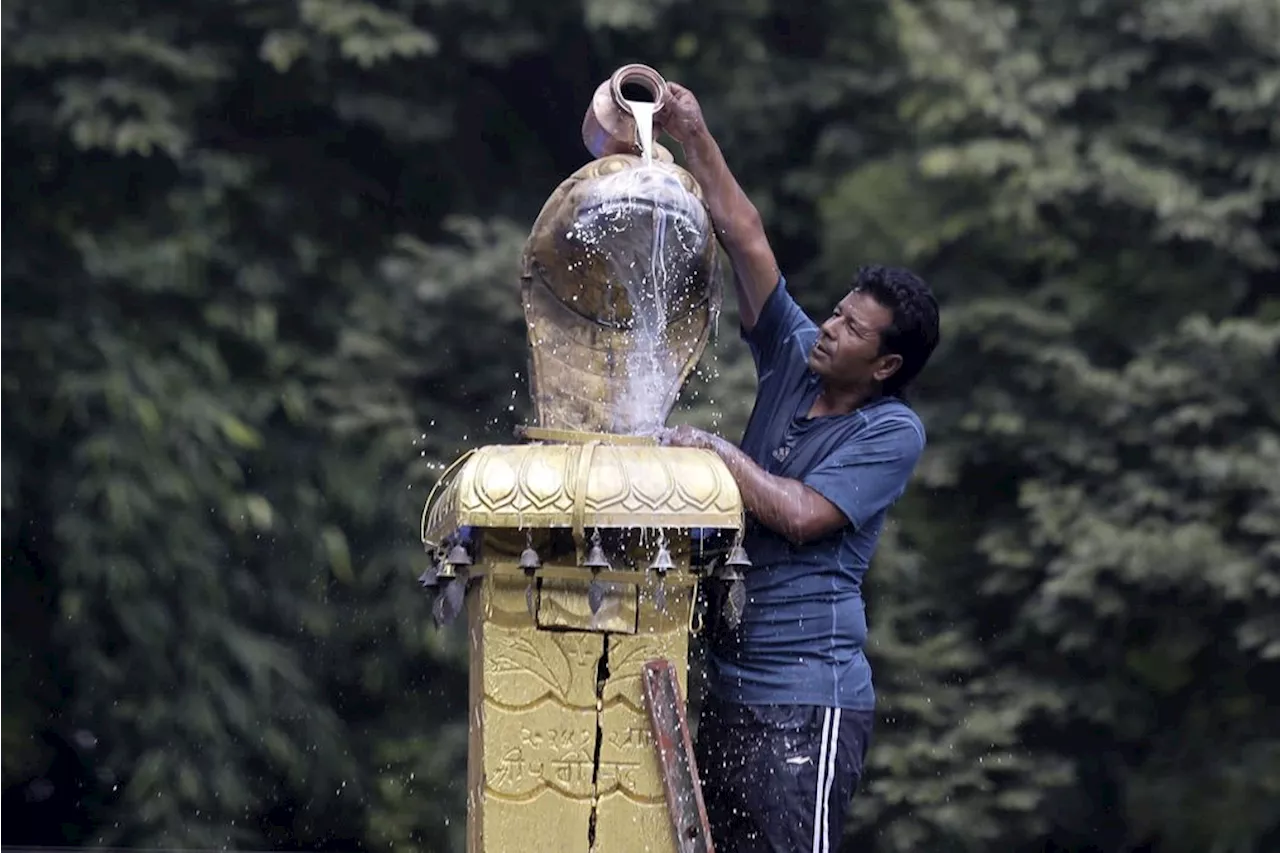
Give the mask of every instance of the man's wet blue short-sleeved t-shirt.
M 847 516 L 833 534 L 792 546 L 748 521 L 746 611 L 708 639 L 708 688 L 745 704 L 876 707 L 863 653 L 863 575 L 884 515 L 924 450 L 924 426 L 893 397 L 847 415 L 809 418 L 820 380 L 809 369 L 818 327 L 778 282 L 744 332 L 759 384 L 742 451 L 771 474 L 797 479 Z

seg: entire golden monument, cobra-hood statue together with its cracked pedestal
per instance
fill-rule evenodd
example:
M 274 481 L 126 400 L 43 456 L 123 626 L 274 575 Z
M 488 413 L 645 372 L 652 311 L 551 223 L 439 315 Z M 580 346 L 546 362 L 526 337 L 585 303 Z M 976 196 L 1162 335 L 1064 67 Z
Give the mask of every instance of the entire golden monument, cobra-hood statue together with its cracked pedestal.
M 458 459 L 422 517 L 435 617 L 470 634 L 467 850 L 676 853 L 641 671 L 669 661 L 686 694 L 705 534 L 742 524 L 714 453 L 643 434 L 719 307 L 701 191 L 662 150 L 593 160 L 521 279 L 531 441 Z

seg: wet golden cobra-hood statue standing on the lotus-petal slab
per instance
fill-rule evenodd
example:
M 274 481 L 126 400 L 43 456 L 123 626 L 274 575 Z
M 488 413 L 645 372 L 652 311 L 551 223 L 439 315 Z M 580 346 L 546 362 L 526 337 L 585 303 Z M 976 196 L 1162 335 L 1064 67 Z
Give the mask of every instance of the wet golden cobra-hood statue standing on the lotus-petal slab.
M 623 173 L 634 173 L 635 181 Z M 620 175 L 626 179 L 620 181 Z M 616 222 L 599 213 L 602 200 L 625 205 L 623 214 L 614 214 L 626 218 L 625 227 L 595 227 Z M 672 252 L 662 264 L 659 286 L 667 324 L 658 362 L 669 382 L 660 400 L 635 410 L 623 400 L 634 368 L 635 315 L 618 279 L 639 280 L 636 277 L 652 266 L 658 222 L 654 209 L 666 211 L 668 220 L 678 213 L 696 238 L 687 257 Z M 584 223 L 593 227 L 579 228 Z M 593 236 L 584 238 L 582 233 Z M 662 245 L 671 251 L 676 242 L 668 236 Z M 616 154 L 566 178 L 543 205 L 521 263 L 538 425 L 627 434 L 641 421 L 664 423 L 719 313 L 718 263 L 701 188 L 669 161 L 669 154 L 650 167 L 639 156 Z

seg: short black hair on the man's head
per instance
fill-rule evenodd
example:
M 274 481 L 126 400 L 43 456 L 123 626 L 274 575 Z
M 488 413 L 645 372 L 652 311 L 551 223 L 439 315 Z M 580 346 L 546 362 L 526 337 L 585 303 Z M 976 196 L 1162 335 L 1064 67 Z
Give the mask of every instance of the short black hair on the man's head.
M 938 302 L 919 275 L 899 266 L 863 266 L 852 289 L 869 293 L 893 314 L 888 328 L 881 329 L 881 355 L 902 356 L 902 366 L 882 391 L 902 397 L 938 346 Z

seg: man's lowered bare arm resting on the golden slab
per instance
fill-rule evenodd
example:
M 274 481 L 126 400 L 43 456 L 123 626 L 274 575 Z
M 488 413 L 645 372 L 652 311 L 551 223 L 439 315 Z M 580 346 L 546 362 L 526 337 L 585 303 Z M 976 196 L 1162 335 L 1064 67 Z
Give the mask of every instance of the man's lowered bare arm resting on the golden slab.
M 714 451 L 737 483 L 746 511 L 792 544 L 822 539 L 849 524 L 845 514 L 818 492 L 800 480 L 769 474 L 719 435 L 676 426 L 666 432 L 663 442 Z

